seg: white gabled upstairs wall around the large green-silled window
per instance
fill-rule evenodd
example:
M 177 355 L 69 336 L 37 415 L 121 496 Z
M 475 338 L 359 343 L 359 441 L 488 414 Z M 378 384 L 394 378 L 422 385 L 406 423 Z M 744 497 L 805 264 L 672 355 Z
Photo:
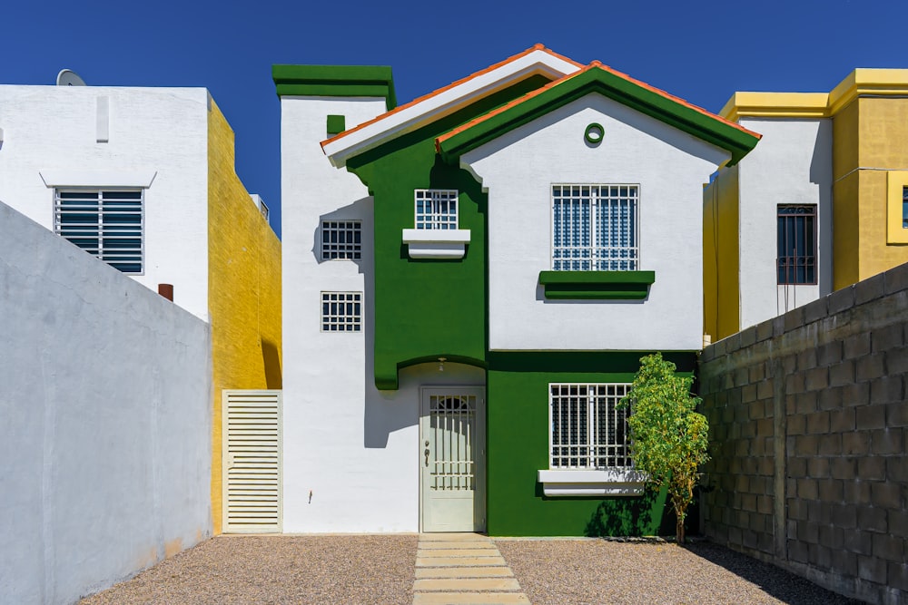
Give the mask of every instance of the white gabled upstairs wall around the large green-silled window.
M 603 141 L 584 140 L 597 122 Z M 702 190 L 728 158 L 685 132 L 590 94 L 461 158 L 489 190 L 489 347 L 692 350 L 702 345 Z M 553 183 L 630 183 L 640 191 L 645 301 L 547 300 Z

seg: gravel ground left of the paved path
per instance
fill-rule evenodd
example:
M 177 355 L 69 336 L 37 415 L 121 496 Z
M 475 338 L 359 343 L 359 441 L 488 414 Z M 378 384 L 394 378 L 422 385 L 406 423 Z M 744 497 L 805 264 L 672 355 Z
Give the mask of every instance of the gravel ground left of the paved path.
M 416 535 L 219 536 L 81 605 L 413 602 Z

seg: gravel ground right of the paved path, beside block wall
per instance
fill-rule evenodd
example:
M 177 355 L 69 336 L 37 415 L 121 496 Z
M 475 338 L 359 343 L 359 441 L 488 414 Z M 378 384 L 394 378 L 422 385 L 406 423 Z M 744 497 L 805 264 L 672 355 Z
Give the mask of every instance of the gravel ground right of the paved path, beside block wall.
M 534 605 L 851 605 L 773 565 L 709 542 L 496 540 Z

